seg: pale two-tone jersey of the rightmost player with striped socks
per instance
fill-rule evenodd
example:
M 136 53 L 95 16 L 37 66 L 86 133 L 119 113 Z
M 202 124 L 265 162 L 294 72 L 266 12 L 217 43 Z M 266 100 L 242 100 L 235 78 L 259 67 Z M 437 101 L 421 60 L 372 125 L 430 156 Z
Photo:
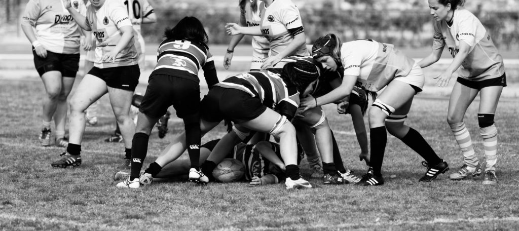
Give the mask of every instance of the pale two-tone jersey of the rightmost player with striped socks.
M 433 50 L 447 45 L 454 58 L 461 40 L 470 45 L 470 50 L 458 70 L 459 77 L 481 81 L 504 74 L 503 58 L 483 24 L 470 11 L 463 8 L 454 10 L 452 26 L 445 21 L 434 22 Z

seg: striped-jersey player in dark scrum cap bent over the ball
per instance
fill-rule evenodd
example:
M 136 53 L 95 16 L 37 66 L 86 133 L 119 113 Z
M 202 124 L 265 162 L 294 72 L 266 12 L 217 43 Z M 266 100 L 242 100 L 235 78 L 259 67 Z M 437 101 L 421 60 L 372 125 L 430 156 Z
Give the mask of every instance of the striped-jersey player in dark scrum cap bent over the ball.
M 246 140 L 251 131 L 265 132 L 280 140 L 280 152 L 285 164 L 287 188 L 309 188 L 301 178 L 297 166 L 297 144 L 294 126 L 290 120 L 299 106 L 299 94 L 306 95 L 317 83 L 317 67 L 307 62 L 286 64 L 283 69 L 243 73 L 216 84 L 201 102 L 200 128 L 210 131 L 223 119 L 232 120 L 235 128 L 225 135 L 202 164 L 204 175 L 200 183 L 207 183 L 208 176 L 225 153 L 234 145 Z M 274 110 L 277 110 L 274 111 Z M 278 113 L 279 112 L 279 113 Z M 145 171 L 145 175 L 158 174 L 162 166 L 178 158 L 186 149 L 185 134 L 179 135 L 162 152 L 161 156 Z M 213 158 L 214 157 L 214 158 Z M 120 187 L 139 187 L 140 169 L 133 168 L 134 181 L 126 180 Z

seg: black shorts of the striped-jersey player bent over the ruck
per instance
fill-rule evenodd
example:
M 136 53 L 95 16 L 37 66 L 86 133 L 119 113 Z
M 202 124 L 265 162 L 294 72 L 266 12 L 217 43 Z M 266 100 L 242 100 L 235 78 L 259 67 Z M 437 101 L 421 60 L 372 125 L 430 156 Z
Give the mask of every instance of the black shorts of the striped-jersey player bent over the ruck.
M 200 107 L 200 116 L 210 122 L 230 119 L 235 124 L 255 119 L 267 110 L 260 98 L 252 97 L 249 93 L 234 89 L 214 86 Z

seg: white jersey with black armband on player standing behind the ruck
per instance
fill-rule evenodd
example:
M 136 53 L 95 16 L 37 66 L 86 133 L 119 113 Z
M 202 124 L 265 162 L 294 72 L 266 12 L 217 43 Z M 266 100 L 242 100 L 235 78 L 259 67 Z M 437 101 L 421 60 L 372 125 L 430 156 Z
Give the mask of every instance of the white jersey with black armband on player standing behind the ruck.
M 270 56 L 275 56 L 294 40 L 294 35 L 304 32 L 301 14 L 291 0 L 274 1 L 261 9 L 261 32 L 270 43 Z M 301 30 L 294 35 L 290 32 L 298 28 Z M 291 55 L 307 56 L 309 53 L 303 44 Z

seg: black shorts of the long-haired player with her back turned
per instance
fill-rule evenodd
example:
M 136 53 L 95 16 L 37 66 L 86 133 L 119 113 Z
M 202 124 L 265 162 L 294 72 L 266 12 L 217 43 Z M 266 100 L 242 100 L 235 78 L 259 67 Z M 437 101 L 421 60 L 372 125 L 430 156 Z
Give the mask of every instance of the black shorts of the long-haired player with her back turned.
M 196 81 L 177 76 L 149 76 L 148 87 L 139 111 L 158 118 L 166 114 L 171 105 L 179 118 L 196 116 L 199 120 L 200 85 Z

